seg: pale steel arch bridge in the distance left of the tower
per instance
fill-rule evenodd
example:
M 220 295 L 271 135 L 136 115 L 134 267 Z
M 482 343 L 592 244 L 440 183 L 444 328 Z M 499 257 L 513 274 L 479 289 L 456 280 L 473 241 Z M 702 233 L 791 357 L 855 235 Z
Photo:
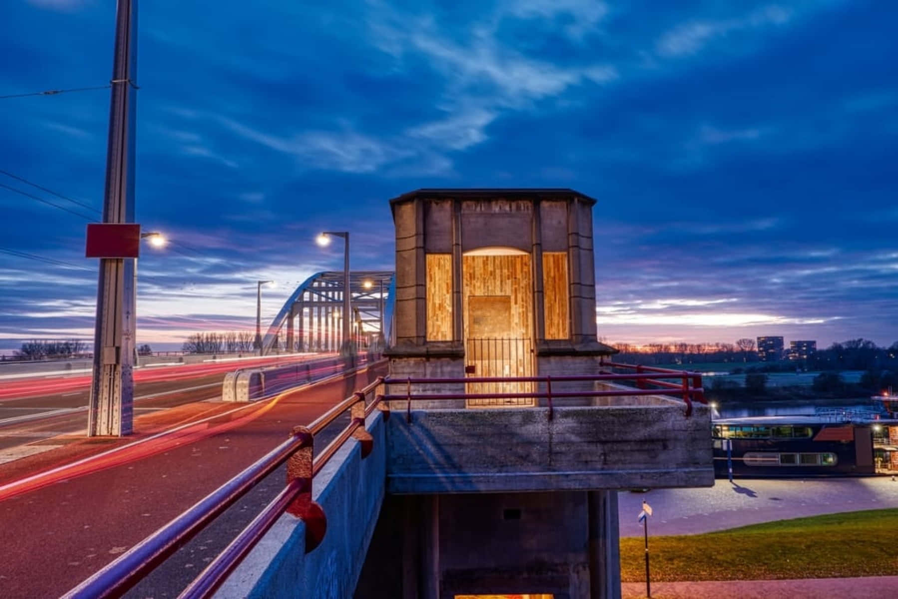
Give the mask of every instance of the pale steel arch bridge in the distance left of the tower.
M 344 340 L 343 279 L 342 270 L 318 272 L 296 287 L 265 333 L 260 354 L 278 351 L 282 341 L 286 351 L 338 351 Z M 357 347 L 392 345 L 395 295 L 392 271 L 349 272 L 350 335 Z

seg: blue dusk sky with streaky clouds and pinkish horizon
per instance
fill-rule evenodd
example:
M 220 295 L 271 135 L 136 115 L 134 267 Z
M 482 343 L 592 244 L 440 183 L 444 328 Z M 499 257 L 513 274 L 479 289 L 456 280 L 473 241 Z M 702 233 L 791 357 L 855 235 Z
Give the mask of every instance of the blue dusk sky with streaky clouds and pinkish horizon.
M 5 0 L 0 96 L 102 86 L 112 0 Z M 392 269 L 388 200 L 565 187 L 599 335 L 898 340 L 898 4 L 139 4 L 138 342 L 254 326 L 313 272 Z M 110 92 L 0 99 L 0 348 L 92 338 Z M 50 263 L 47 260 L 53 261 Z M 65 264 L 57 264 L 56 261 Z M 161 347 L 160 347 L 161 348 Z

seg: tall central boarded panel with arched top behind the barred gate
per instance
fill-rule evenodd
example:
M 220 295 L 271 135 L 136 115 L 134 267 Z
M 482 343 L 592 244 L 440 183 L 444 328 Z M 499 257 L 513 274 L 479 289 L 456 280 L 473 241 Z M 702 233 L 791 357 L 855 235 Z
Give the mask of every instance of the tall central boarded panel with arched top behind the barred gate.
M 472 376 L 533 376 L 533 277 L 529 254 L 464 256 L 466 363 Z M 527 392 L 533 383 L 471 383 L 469 393 Z M 533 405 L 530 399 L 471 400 L 469 406 Z

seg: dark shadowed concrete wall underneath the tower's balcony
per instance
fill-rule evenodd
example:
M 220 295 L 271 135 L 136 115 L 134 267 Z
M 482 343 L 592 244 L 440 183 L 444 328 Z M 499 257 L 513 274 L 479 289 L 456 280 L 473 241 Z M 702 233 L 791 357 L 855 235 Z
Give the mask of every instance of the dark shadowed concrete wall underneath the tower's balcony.
M 356 597 L 612 599 L 618 540 L 613 491 L 388 496 Z

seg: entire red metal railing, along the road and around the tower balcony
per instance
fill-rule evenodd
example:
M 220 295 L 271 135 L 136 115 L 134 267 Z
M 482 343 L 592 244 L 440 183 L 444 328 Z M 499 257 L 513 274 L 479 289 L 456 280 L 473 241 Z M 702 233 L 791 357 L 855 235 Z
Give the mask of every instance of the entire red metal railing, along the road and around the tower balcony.
M 380 362 L 372 362 L 376 366 Z M 643 366 L 617 365 L 606 363 L 603 366 L 616 368 L 644 368 Z M 647 368 L 647 367 L 645 367 Z M 682 384 L 668 383 L 661 379 L 681 378 Z M 656 385 L 660 389 L 619 389 L 614 391 L 572 391 L 552 392 L 552 382 L 585 382 L 624 380 L 635 381 L 643 387 Z M 546 383 L 545 392 L 526 393 L 411 393 L 411 385 L 418 383 Z M 690 386 L 689 383 L 692 383 Z M 405 394 L 374 394 L 381 385 L 406 385 Z M 374 395 L 373 395 L 374 394 Z M 549 418 L 552 418 L 552 399 L 563 397 L 614 397 L 632 395 L 674 395 L 682 396 L 686 404 L 686 416 L 692 411 L 692 401 L 707 403 L 701 387 L 701 375 L 691 372 L 651 368 L 651 372 L 634 374 L 591 374 L 582 376 L 529 376 L 504 378 L 402 378 L 390 379 L 378 377 L 373 383 L 340 401 L 330 410 L 316 418 L 306 427 L 294 427 L 290 436 L 282 444 L 277 445 L 268 454 L 261 457 L 250 467 L 240 472 L 225 485 L 216 489 L 206 498 L 179 515 L 156 531 L 144 541 L 138 543 L 119 559 L 85 580 L 81 585 L 69 591 L 66 599 L 94 599 L 120 597 L 135 586 L 141 579 L 168 559 L 183 544 L 189 542 L 210 524 L 218 515 L 247 492 L 260 480 L 263 480 L 281 464 L 287 464 L 286 486 L 269 504 L 262 509 L 250 524 L 214 559 L 199 576 L 179 595 L 179 599 L 204 599 L 212 596 L 225 579 L 230 575 L 242 559 L 244 559 L 261 538 L 275 524 L 277 518 L 285 512 L 300 517 L 305 523 L 305 551 L 313 551 L 324 538 L 327 530 L 327 516 L 321 507 L 313 501 L 313 480 L 321 469 L 339 451 L 349 438 L 356 438 L 361 445 L 364 459 L 371 453 L 374 440 L 365 430 L 365 418 L 374 410 L 381 410 L 383 418 L 390 418 L 388 401 L 407 401 L 407 418 L 410 421 L 411 401 L 415 400 L 448 400 L 448 399 L 504 399 L 506 397 L 545 398 L 549 407 Z M 371 400 L 369 401 L 369 396 Z M 349 412 L 350 422 L 339 435 L 321 450 L 314 452 L 314 438 L 322 430 L 330 426 L 337 418 Z

